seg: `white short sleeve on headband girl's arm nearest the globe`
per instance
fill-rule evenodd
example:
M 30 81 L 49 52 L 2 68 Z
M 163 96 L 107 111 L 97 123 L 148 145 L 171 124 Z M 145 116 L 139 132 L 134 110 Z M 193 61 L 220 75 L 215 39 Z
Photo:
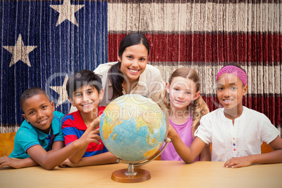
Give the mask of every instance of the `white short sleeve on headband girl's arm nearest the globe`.
M 208 116 L 203 116 L 200 120 L 200 125 L 194 133 L 195 137 L 201 138 L 207 145 L 212 142 L 213 128 Z

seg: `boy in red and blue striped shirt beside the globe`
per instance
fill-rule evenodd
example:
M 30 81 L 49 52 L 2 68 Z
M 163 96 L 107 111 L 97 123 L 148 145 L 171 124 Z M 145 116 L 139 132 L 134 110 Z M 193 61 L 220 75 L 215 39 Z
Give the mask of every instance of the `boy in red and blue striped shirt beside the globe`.
M 65 145 L 96 130 L 100 122 L 100 114 L 105 107 L 98 107 L 103 95 L 100 76 L 89 70 L 81 70 L 73 74 L 67 81 L 67 95 L 72 105 L 78 109 L 67 114 L 62 119 L 62 133 Z M 99 133 L 99 132 L 98 132 Z M 100 136 L 98 135 L 100 138 Z M 99 144 L 98 144 L 99 143 Z M 88 146 L 78 149 L 60 166 L 91 166 L 105 163 L 115 163 L 116 156 L 108 152 L 101 140 L 92 142 Z

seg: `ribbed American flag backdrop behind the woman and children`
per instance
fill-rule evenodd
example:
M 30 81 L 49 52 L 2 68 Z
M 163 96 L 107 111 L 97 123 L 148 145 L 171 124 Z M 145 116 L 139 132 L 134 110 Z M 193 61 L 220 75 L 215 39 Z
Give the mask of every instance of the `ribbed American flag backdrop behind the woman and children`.
M 149 63 L 165 81 L 178 67 L 196 69 L 210 111 L 220 107 L 217 72 L 239 62 L 248 74 L 243 104 L 281 131 L 281 15 L 282 2 L 274 0 L 1 0 L 0 133 L 18 130 L 20 94 L 32 86 L 44 88 L 67 113 L 67 78 L 116 61 L 130 32 L 145 34 Z

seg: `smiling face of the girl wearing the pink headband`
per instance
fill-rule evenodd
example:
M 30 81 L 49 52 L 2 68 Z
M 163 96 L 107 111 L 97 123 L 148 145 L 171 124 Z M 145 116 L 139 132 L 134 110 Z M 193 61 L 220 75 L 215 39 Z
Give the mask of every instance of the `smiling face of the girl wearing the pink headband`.
M 234 74 L 220 74 L 217 79 L 217 98 L 225 109 L 243 106 L 243 96 L 246 95 L 248 86 Z

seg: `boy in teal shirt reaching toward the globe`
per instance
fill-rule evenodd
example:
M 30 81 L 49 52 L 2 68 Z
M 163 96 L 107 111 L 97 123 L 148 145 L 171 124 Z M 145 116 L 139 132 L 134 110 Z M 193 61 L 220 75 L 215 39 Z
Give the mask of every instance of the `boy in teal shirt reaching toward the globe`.
M 0 168 L 40 165 L 51 170 L 77 149 L 100 139 L 99 130 L 95 130 L 76 140 L 72 145 L 64 147 L 64 136 L 60 126 L 64 114 L 55 111 L 54 102 L 50 101 L 45 90 L 41 88 L 25 90 L 20 98 L 20 106 L 25 121 L 15 135 L 13 152 L 9 157 L 0 158 Z M 95 125 L 99 126 L 99 121 L 96 121 Z

